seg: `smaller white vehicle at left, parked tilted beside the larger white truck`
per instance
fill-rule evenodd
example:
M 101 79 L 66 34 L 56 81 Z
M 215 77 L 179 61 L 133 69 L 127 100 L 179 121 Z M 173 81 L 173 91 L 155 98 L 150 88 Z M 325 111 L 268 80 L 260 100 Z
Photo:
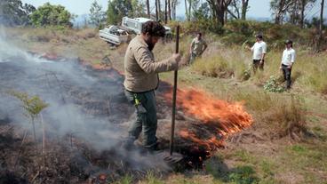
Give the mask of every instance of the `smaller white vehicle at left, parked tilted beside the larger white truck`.
M 131 40 L 131 35 L 128 31 L 117 26 L 109 26 L 108 28 L 101 29 L 99 36 L 100 39 L 116 45 L 128 43 Z

